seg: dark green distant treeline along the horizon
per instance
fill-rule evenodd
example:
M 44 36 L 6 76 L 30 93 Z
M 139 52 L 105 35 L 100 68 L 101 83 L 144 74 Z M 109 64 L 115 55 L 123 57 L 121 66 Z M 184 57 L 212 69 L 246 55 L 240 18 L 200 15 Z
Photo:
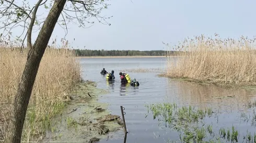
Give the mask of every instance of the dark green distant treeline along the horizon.
M 166 50 L 90 50 L 75 49 L 76 56 L 166 56 Z

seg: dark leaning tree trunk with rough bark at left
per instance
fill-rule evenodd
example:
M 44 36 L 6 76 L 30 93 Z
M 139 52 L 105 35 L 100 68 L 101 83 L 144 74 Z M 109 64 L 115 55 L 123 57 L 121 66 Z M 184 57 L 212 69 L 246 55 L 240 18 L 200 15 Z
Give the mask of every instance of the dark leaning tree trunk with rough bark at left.
M 48 16 L 44 21 L 43 27 L 39 32 L 36 42 L 32 49 L 29 50 L 26 66 L 9 116 L 9 123 L 7 125 L 7 131 L 4 138 L 5 143 L 18 143 L 21 141 L 28 103 L 38 68 L 40 66 L 40 61 L 65 3 L 66 0 L 54 1 Z

